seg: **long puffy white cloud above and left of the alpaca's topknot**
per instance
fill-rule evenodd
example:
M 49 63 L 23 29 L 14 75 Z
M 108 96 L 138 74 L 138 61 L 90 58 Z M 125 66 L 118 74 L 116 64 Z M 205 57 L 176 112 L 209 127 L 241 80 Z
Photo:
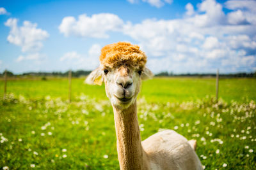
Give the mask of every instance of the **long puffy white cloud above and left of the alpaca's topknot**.
M 63 18 L 59 30 L 65 36 L 75 35 L 93 38 L 108 38 L 109 31 L 122 30 L 123 21 L 111 13 L 99 13 L 88 17 L 86 14 Z

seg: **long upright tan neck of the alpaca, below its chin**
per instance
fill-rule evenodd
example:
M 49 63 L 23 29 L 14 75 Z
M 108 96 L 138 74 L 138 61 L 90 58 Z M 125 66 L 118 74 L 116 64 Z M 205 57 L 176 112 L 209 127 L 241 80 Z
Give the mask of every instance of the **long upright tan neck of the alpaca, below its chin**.
M 120 169 L 148 169 L 141 146 L 136 101 L 125 110 L 113 106 Z

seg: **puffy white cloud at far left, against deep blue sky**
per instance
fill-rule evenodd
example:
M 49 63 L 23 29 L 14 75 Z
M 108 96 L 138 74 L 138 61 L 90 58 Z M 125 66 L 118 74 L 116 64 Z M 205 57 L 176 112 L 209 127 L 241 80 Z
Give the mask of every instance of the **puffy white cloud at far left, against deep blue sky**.
M 35 52 L 42 48 L 42 41 L 49 37 L 47 31 L 38 29 L 37 24 L 24 21 L 23 25 L 17 25 L 17 18 L 8 19 L 4 25 L 10 27 L 11 31 L 7 40 L 14 45 L 21 46 L 22 52 Z

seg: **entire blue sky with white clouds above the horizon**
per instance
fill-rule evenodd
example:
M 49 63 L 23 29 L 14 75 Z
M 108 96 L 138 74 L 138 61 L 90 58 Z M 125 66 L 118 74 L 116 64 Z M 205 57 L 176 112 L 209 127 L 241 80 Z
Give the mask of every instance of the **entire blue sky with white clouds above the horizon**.
M 92 70 L 100 49 L 141 46 L 154 72 L 256 71 L 256 1 L 1 1 L 0 71 Z

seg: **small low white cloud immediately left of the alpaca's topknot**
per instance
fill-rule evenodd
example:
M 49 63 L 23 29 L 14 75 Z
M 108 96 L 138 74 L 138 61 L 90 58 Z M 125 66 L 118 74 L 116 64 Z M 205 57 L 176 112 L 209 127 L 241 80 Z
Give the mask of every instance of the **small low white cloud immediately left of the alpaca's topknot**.
M 100 45 L 94 44 L 88 50 L 88 53 L 84 55 L 77 52 L 67 52 L 60 58 L 60 61 L 65 67 L 69 67 L 70 69 L 92 70 L 99 66 L 100 49 Z

